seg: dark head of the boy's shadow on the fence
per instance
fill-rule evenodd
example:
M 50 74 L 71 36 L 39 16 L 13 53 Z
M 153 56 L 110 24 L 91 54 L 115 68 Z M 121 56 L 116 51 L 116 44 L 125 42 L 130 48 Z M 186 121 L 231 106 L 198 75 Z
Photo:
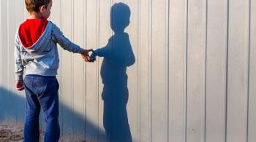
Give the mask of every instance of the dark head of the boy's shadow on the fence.
M 121 2 L 114 4 L 110 11 L 110 24 L 113 31 L 124 31 L 124 28 L 129 25 L 130 15 L 131 11 L 127 4 Z

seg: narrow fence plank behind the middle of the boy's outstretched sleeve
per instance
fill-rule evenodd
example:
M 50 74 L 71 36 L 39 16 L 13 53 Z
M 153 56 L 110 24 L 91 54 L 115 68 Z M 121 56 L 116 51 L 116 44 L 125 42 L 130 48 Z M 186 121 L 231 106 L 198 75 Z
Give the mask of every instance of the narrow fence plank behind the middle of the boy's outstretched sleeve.
M 62 31 L 64 35 L 72 40 L 72 1 L 64 0 L 61 3 L 62 15 Z M 72 136 L 73 129 L 73 120 L 72 120 L 72 87 L 74 86 L 72 83 L 72 53 L 68 51 L 62 52 L 62 76 L 61 76 L 61 84 L 62 84 L 62 94 L 61 99 L 63 103 L 63 133 L 67 133 L 69 136 Z

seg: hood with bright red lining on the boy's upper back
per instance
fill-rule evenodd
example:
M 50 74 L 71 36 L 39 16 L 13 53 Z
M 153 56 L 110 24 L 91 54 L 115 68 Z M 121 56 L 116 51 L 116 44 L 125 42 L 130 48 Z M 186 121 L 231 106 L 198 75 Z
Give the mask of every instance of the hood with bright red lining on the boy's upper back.
M 50 51 L 51 31 L 52 24 L 48 20 L 26 20 L 18 28 L 18 38 L 26 52 L 40 55 Z

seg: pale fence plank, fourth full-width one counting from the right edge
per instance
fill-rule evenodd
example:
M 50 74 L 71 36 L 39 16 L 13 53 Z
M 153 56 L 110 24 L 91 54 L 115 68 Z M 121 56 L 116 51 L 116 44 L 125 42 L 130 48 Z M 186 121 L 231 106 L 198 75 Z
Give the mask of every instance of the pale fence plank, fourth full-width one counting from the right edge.
M 169 23 L 169 141 L 185 141 L 187 1 L 170 0 Z

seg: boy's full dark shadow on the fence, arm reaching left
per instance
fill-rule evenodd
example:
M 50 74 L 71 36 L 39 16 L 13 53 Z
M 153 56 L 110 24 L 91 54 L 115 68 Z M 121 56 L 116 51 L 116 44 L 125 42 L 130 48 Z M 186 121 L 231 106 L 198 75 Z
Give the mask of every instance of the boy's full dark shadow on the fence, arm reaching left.
M 105 47 L 95 50 L 91 58 L 104 57 L 100 75 L 104 84 L 103 125 L 109 141 L 132 141 L 127 117 L 129 91 L 127 67 L 135 63 L 135 56 L 124 29 L 129 25 L 130 9 L 124 3 L 111 7 L 110 25 L 114 35 Z

